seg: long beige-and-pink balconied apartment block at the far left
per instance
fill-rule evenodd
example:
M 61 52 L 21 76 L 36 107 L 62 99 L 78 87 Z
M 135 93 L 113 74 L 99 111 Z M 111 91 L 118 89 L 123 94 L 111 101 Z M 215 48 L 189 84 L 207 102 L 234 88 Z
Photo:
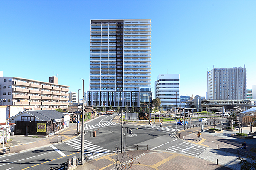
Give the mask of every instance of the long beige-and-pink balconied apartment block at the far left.
M 67 108 L 68 91 L 69 86 L 59 85 L 55 76 L 50 77 L 49 82 L 3 77 L 3 74 L 0 77 L 0 99 L 4 99 L 3 105 L 22 106 L 23 110 Z

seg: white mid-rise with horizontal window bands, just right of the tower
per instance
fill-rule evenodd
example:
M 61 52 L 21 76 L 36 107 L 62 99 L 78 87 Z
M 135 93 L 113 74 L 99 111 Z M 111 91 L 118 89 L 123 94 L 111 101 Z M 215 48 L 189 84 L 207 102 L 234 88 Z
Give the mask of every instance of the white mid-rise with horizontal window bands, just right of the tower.
M 155 98 L 161 100 L 164 110 L 176 108 L 180 103 L 180 74 L 159 74 L 155 81 Z

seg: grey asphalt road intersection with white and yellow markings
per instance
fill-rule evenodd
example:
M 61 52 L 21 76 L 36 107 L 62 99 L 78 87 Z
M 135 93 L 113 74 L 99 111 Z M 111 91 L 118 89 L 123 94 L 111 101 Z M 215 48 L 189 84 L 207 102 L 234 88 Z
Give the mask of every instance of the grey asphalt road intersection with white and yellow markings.
M 121 125 L 112 122 L 112 116 L 104 115 L 85 123 L 84 152 L 90 159 L 91 153 L 99 156 L 114 151 L 120 146 Z M 210 120 L 208 120 L 209 122 Z M 196 124 L 199 122 L 192 122 Z M 125 145 L 147 144 L 148 149 L 169 150 L 172 152 L 186 153 L 193 156 L 200 155 L 206 147 L 184 142 L 172 135 L 176 130 L 176 123 L 160 125 L 131 125 L 126 128 L 134 128 L 132 134 L 126 133 Z M 183 130 L 183 126 L 178 127 Z M 96 137 L 91 132 L 96 131 Z M 127 132 L 127 131 L 126 131 Z M 80 157 L 81 136 L 67 142 L 53 144 L 38 150 L 15 153 L 0 157 L 1 170 L 44 170 L 67 161 L 72 156 Z

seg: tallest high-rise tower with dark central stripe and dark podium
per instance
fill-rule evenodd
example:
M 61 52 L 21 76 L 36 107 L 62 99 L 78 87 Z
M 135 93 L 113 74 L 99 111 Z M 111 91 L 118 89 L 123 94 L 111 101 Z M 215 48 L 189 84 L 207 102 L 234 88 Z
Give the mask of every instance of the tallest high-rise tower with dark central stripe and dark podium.
M 151 20 L 90 20 L 87 105 L 151 102 Z

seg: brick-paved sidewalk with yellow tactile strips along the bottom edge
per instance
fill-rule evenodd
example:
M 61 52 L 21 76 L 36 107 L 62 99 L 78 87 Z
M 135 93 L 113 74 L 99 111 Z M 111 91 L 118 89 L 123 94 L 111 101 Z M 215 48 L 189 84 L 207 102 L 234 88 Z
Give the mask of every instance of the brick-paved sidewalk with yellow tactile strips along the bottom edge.
M 133 170 L 231 170 L 215 162 L 168 151 L 128 151 L 134 158 Z M 79 165 L 76 170 L 107 170 L 113 168 L 113 155 L 108 154 Z M 136 158 L 136 159 L 135 159 Z M 181 161 L 182 160 L 182 161 Z

